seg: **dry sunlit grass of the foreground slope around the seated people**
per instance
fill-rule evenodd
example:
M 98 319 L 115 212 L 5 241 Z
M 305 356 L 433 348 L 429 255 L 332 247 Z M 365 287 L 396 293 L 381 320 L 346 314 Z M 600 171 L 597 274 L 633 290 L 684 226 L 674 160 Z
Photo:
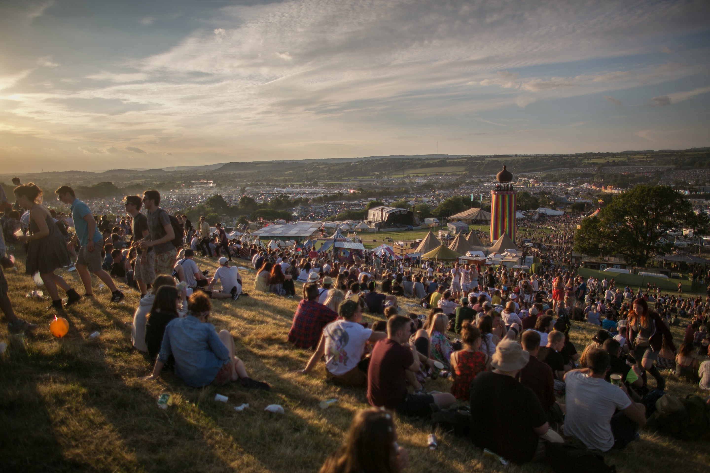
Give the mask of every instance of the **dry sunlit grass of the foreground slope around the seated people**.
M 200 265 L 214 271 L 212 263 Z M 133 292 L 125 304 L 112 305 L 107 289 L 95 288 L 97 301 L 67 309 L 72 330 L 64 340 L 53 340 L 43 309 L 48 304 L 24 297 L 35 287 L 20 266 L 7 274 L 11 299 L 20 316 L 40 326 L 28 334 L 25 350 L 9 350 L 0 360 L 3 472 L 314 472 L 341 443 L 353 414 L 367 407 L 364 390 L 326 382 L 322 365 L 308 377 L 295 372 L 310 355 L 285 341 L 297 301 L 249 290 L 253 272 L 242 271 L 251 296 L 236 304 L 214 301 L 212 323 L 234 335 L 238 355 L 255 379 L 271 384 L 269 393 L 239 384 L 192 389 L 170 374 L 143 381 L 151 367 L 131 347 L 125 325 L 138 301 Z M 3 325 L 2 340 L 5 330 Z M 88 338 L 94 330 L 100 337 Z M 593 332 L 575 324 L 580 350 Z M 449 383 L 437 380 L 427 388 L 444 391 Z M 679 395 L 697 391 L 672 377 L 668 387 Z M 155 404 L 162 393 L 175 396 L 167 411 Z M 215 393 L 229 396 L 229 402 L 215 402 Z M 318 407 L 318 401 L 332 397 L 339 400 L 332 408 Z M 234 411 L 243 402 L 251 407 Z M 268 404 L 281 404 L 285 415 L 263 411 Z M 425 421 L 400 418 L 398 433 L 410 450 L 410 472 L 502 471 L 453 434 L 440 434 L 439 450 L 431 452 Z M 619 472 L 637 471 L 640 459 L 645 469 L 652 465 L 650 471 L 699 471 L 710 464 L 706 443 L 679 442 L 652 428 L 642 432 L 640 442 L 607 458 Z M 506 471 L 551 470 L 532 464 Z

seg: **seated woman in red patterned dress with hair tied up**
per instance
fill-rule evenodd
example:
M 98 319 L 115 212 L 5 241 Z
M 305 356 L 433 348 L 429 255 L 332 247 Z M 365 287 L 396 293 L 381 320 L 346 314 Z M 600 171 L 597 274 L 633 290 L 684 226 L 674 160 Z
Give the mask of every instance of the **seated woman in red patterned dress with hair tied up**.
M 462 301 L 464 299 L 466 298 L 461 298 Z M 454 374 L 451 394 L 456 399 L 468 401 L 471 383 L 476 379 L 476 375 L 490 369 L 491 358 L 481 352 L 481 330 L 471 321 L 466 320 L 461 325 L 461 342 L 464 344 L 463 350 L 453 352 L 449 358 Z

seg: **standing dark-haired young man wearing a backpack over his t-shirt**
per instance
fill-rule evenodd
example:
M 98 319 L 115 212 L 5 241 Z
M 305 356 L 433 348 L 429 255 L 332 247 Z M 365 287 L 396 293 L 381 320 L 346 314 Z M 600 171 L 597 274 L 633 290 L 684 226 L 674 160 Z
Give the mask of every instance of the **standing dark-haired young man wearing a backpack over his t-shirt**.
M 158 204 L 160 204 L 158 191 L 143 192 L 143 205 L 148 211 L 149 234 L 148 238 L 143 239 L 138 247 L 141 250 L 153 248 L 155 274 L 172 274 L 173 267 L 175 267 L 175 257 L 178 255 L 174 245 L 175 229 L 168 213 L 158 207 Z

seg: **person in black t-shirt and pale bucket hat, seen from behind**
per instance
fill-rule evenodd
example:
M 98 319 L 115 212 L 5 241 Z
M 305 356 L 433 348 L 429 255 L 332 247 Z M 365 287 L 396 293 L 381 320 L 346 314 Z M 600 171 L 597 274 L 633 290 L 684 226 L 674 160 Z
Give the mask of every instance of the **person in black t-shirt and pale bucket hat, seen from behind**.
M 540 437 L 549 428 L 535 393 L 517 381 L 529 359 L 520 343 L 501 340 L 491 360 L 493 371 L 476 376 L 469 393 L 474 445 L 515 463 L 535 457 Z

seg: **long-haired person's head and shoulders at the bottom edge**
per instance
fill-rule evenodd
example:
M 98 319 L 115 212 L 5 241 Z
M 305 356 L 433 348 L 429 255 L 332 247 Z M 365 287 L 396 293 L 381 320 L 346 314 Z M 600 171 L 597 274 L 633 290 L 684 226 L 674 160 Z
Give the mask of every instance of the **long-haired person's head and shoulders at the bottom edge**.
M 345 443 L 325 460 L 319 473 L 399 473 L 407 467 L 407 450 L 397 443 L 392 415 L 381 409 L 356 413 Z

